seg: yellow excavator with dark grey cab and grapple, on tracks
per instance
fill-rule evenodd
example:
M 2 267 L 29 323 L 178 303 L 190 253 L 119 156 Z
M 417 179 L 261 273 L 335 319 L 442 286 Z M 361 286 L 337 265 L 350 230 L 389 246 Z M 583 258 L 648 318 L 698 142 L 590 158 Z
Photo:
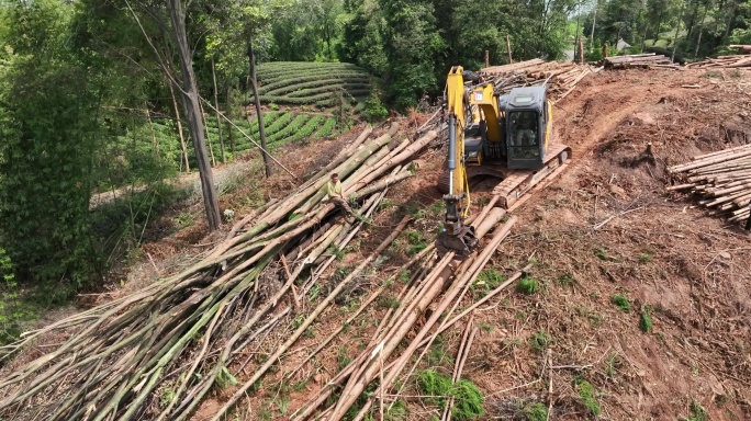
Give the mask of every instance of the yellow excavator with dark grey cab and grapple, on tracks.
M 466 80 L 468 79 L 468 80 Z M 438 235 L 441 252 L 469 255 L 478 244 L 474 228 L 464 224 L 470 208 L 470 179 L 501 179 L 493 189 L 497 206 L 509 208 L 571 157 L 571 148 L 554 143 L 552 101 L 547 86 L 514 88 L 502 94 L 461 66 L 447 81 L 448 168 L 438 190 L 446 203 L 445 229 Z

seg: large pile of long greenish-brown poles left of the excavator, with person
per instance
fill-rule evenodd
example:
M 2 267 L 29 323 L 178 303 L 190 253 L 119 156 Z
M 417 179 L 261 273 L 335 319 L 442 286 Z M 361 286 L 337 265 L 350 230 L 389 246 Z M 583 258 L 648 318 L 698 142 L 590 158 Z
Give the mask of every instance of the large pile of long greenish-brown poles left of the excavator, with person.
M 394 227 L 328 296 L 312 306 L 304 303 L 335 260 L 330 250 L 344 249 L 362 227 L 358 219 L 337 217 L 335 206 L 322 201 L 328 175 L 339 174 L 345 194 L 368 217 L 390 185 L 411 175 L 410 161 L 436 137 L 428 132 L 414 141 L 397 143 L 392 141 L 395 129 L 378 138 L 369 138 L 371 130 L 366 129 L 288 197 L 237 223 L 191 268 L 0 348 L 0 367 L 12 366 L 0 378 L 0 418 L 184 420 L 216 385 L 232 384 L 246 373 L 249 379 L 214 417 L 223 419 L 345 288 L 382 261 L 381 253 L 410 223 L 407 216 Z M 445 283 L 453 273 L 451 254 L 437 266 L 428 253 L 421 255 L 425 270 L 413 282 L 433 288 L 433 295 L 404 297 L 402 305 L 410 311 L 425 309 L 440 292 L 426 276 L 438 271 L 436 277 L 444 276 Z M 416 263 L 413 260 L 402 269 Z M 423 298 L 416 301 L 416 297 Z M 392 328 L 403 338 L 418 314 L 395 321 Z M 44 354 L 34 351 L 38 356 L 34 361 L 12 361 L 51 334 L 67 339 L 45 348 Z M 281 338 L 283 343 L 271 344 L 268 338 Z M 383 349 L 384 355 L 397 342 Z M 254 355 L 262 345 L 272 351 L 261 361 Z

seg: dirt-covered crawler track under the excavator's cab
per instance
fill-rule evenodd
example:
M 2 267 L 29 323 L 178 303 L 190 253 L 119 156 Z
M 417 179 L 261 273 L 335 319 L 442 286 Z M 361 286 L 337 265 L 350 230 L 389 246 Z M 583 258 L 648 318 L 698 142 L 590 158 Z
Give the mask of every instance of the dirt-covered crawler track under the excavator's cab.
M 548 160 L 539 170 L 508 171 L 501 184 L 493 189 L 493 195 L 498 196 L 497 206 L 508 209 L 542 180 L 558 175 L 556 170 L 571 158 L 571 148 L 565 145 L 550 145 L 546 155 Z

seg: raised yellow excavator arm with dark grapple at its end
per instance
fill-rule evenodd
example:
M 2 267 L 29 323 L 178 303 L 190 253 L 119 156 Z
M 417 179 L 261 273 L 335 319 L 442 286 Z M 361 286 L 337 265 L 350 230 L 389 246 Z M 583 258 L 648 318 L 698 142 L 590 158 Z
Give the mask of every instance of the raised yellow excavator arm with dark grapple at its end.
M 449 124 L 448 172 L 449 192 L 444 195 L 446 224 L 438 235 L 437 247 L 440 251 L 453 251 L 467 257 L 478 244 L 474 227 L 464 225 L 468 206 L 468 179 L 464 167 L 464 80 L 463 68 L 455 66 L 448 75 L 447 111 Z M 464 207 L 464 208 L 462 208 Z

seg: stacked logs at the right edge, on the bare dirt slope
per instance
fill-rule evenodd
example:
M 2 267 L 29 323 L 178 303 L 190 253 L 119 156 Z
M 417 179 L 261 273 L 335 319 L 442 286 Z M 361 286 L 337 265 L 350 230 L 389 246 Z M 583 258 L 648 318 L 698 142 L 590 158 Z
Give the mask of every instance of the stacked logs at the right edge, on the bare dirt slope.
M 694 157 L 692 162 L 671 167 L 668 171 L 681 184 L 669 191 L 692 192 L 699 205 L 730 223 L 749 217 L 751 201 L 751 145 Z

